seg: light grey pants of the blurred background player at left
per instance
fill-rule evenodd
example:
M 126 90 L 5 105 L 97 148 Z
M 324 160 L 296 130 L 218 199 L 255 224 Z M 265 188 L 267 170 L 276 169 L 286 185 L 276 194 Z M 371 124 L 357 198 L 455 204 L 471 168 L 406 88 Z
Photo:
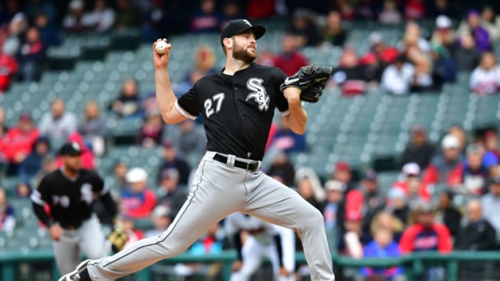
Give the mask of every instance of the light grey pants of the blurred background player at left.
M 59 241 L 53 241 L 56 264 L 61 275 L 73 271 L 81 262 L 80 250 L 89 259 L 104 257 L 106 250 L 101 224 L 95 214 L 75 230 L 65 229 Z M 110 248 L 110 247 L 108 247 Z

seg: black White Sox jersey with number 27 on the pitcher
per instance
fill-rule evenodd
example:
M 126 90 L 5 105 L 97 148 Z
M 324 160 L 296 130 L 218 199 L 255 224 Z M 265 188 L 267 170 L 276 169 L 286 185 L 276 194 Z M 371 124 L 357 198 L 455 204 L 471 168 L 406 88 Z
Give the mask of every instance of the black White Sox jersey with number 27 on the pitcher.
M 288 113 L 279 90 L 286 77 L 281 69 L 256 63 L 233 76 L 217 72 L 198 80 L 176 108 L 191 119 L 203 114 L 208 151 L 262 160 L 274 108 Z

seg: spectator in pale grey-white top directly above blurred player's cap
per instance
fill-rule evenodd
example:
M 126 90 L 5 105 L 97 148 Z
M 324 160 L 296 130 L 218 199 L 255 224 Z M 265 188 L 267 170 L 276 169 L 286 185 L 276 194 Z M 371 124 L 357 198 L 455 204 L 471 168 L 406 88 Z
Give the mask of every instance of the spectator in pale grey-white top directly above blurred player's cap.
M 51 144 L 65 141 L 76 132 L 78 121 L 73 112 L 65 111 L 65 102 L 56 99 L 52 102 L 51 112 L 46 112 L 38 125 L 40 134 L 49 137 Z M 54 142 L 55 141 L 55 142 Z

